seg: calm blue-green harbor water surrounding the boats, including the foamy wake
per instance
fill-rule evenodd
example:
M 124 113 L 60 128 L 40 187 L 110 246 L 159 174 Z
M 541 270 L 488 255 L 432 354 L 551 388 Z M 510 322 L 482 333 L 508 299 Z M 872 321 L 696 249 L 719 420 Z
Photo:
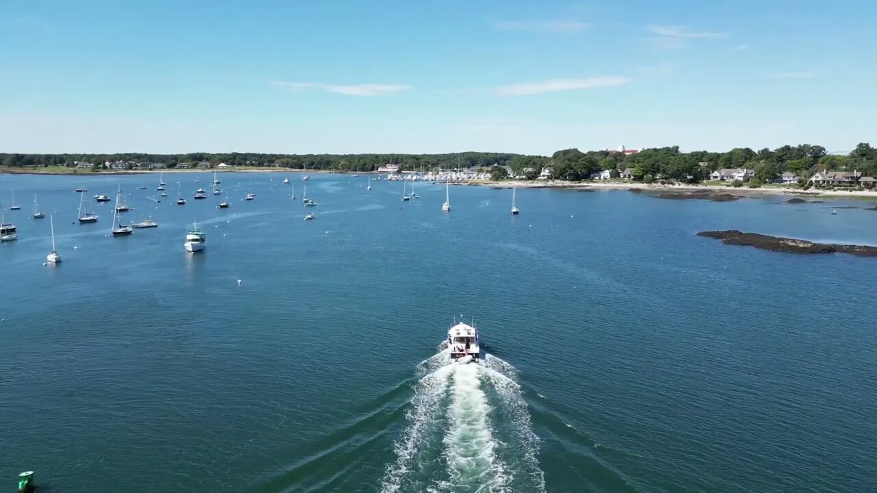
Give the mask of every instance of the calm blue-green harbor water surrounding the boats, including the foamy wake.
M 0 483 L 52 491 L 875 491 L 877 245 L 843 204 L 675 201 L 315 175 L 0 176 Z M 191 197 L 210 175 L 168 174 Z M 199 179 L 200 183 L 194 183 Z M 153 230 L 109 238 L 121 184 Z M 139 190 L 146 184 L 149 190 Z M 256 200 L 244 202 L 247 192 Z M 52 212 L 63 255 L 44 267 Z M 870 204 L 852 204 L 866 205 Z M 208 234 L 186 254 L 186 229 Z M 238 283 L 240 280 L 240 283 Z M 445 365 L 454 316 L 488 359 Z

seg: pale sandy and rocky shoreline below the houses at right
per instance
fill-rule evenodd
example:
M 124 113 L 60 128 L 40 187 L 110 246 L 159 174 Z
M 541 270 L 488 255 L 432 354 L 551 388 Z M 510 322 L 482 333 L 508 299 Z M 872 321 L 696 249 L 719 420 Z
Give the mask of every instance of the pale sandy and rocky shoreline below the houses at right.
M 877 190 L 823 190 L 823 189 L 791 189 L 791 188 L 780 188 L 780 187 L 765 187 L 762 186 L 758 189 L 748 189 L 745 187 L 728 187 L 723 185 L 695 185 L 695 184 L 680 184 L 680 185 L 661 185 L 655 183 L 640 183 L 640 182 L 566 182 L 563 180 L 542 180 L 542 181 L 533 181 L 533 182 L 521 182 L 521 181 L 503 181 L 503 182 L 490 182 L 490 181 L 478 181 L 478 182 L 458 182 L 456 184 L 465 184 L 470 186 L 479 186 L 479 187 L 494 187 L 498 189 L 577 189 L 577 190 L 637 190 L 637 191 L 655 191 L 655 192 L 670 192 L 670 193 L 678 193 L 680 195 L 688 195 L 694 193 L 708 193 L 708 194 L 734 194 L 740 196 L 759 196 L 759 195 L 782 195 L 782 196 L 838 196 L 838 197 L 859 197 L 859 198 L 871 198 L 873 200 L 877 200 Z

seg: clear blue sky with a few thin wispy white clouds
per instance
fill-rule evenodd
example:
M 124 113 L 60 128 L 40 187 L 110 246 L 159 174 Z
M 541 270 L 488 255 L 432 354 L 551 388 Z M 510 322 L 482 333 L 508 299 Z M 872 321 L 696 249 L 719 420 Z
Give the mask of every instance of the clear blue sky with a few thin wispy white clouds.
M 877 4 L 0 3 L 0 152 L 877 144 Z

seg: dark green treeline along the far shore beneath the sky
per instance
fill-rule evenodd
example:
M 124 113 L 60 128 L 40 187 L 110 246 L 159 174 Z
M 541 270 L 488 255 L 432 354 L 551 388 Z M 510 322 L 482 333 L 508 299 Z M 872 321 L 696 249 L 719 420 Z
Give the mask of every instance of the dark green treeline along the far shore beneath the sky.
M 824 146 L 781 146 L 774 150 L 753 151 L 738 147 L 726 153 L 694 151 L 681 153 L 679 146 L 644 149 L 637 154 L 614 151 L 566 149 L 551 157 L 505 153 L 454 154 L 0 154 L 5 167 L 74 166 L 74 162 L 162 163 L 168 168 L 186 163 L 211 165 L 225 163 L 236 167 L 281 167 L 337 171 L 374 171 L 381 166 L 398 164 L 402 169 L 492 168 L 492 175 L 503 178 L 535 178 L 542 168 L 552 168 L 554 178 L 579 181 L 604 169 L 623 171 L 630 168 L 636 180 L 666 178 L 697 182 L 708 178 L 718 168 L 751 168 L 762 182 L 790 171 L 804 179 L 817 169 L 858 170 L 877 177 L 877 150 L 861 143 L 850 154 L 826 154 Z M 510 171 L 509 171 L 510 170 Z

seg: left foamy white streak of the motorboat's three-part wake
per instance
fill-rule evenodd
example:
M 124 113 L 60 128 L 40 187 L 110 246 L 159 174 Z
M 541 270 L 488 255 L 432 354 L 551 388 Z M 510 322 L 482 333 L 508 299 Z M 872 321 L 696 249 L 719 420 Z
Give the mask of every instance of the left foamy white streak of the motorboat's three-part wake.
M 381 492 L 401 491 L 403 481 L 411 470 L 411 463 L 424 442 L 424 432 L 440 416 L 439 404 L 447 392 L 448 380 L 453 369 L 452 365 L 441 367 L 417 382 L 414 397 L 411 398 L 411 409 L 406 415 L 409 425 L 403 433 L 403 438 L 396 442 L 396 462 L 387 467 L 381 483 Z

